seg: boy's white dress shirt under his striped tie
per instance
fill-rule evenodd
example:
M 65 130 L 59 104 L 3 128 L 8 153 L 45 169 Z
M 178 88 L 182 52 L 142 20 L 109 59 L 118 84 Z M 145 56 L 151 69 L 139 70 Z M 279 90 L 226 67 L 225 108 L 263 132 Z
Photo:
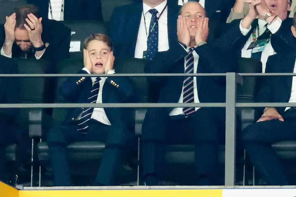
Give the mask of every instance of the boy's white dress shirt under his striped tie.
M 86 68 L 83 68 L 82 70 L 88 72 L 89 74 L 91 74 L 89 72 L 88 69 Z M 107 74 L 114 74 L 115 72 L 114 71 L 108 71 Z M 98 98 L 96 100 L 96 103 L 102 103 L 102 92 L 103 92 L 103 86 L 104 86 L 104 83 L 107 79 L 107 77 L 100 77 L 101 80 L 100 80 L 100 89 L 99 89 L 99 95 L 98 95 Z M 94 85 L 94 82 L 96 81 L 96 77 L 91 77 L 91 80 L 93 82 L 93 85 Z M 107 118 L 107 115 L 105 113 L 105 110 L 104 108 L 94 108 L 94 111 L 93 113 L 91 114 L 91 119 L 95 119 L 105 125 L 111 125 L 109 119 Z

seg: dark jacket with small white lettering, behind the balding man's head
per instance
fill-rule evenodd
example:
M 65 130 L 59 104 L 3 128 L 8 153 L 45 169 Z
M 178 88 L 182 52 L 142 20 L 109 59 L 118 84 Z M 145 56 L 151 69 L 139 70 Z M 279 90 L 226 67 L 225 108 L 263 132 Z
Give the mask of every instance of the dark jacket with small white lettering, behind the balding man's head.
M 178 0 L 168 0 L 175 5 Z M 231 8 L 233 8 L 235 0 L 205 0 L 205 11 L 207 17 L 211 20 L 217 20 L 220 23 L 225 23 L 229 17 Z

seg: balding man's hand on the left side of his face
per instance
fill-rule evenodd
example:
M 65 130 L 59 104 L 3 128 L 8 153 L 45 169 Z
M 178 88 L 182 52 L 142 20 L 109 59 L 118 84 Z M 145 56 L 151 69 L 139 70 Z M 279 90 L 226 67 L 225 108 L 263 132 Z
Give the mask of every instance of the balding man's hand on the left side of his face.
M 183 16 L 179 15 L 177 19 L 177 35 L 178 40 L 186 46 L 190 43 L 190 33 L 186 25 L 186 20 Z

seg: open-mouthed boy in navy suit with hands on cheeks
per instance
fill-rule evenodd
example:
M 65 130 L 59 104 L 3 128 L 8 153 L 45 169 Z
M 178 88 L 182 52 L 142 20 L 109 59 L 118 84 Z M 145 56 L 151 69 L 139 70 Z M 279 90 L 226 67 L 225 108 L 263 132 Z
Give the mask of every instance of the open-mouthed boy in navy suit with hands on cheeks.
M 112 77 L 113 44 L 106 35 L 92 34 L 84 42 L 84 68 L 60 87 L 62 96 L 73 103 L 124 103 L 134 95 L 126 77 Z M 89 74 L 108 74 L 91 77 Z M 117 166 L 123 153 L 131 150 L 133 135 L 128 131 L 127 108 L 72 108 L 63 125 L 52 128 L 47 135 L 55 186 L 70 186 L 67 145 L 78 141 L 105 142 L 95 186 L 113 185 Z

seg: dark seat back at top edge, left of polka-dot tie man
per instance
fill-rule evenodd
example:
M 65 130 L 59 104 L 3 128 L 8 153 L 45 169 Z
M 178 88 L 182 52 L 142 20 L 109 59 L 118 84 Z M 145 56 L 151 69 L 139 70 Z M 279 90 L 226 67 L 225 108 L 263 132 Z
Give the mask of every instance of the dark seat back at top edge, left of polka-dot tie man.
M 132 0 L 101 0 L 103 20 L 110 21 L 113 9 L 115 7 L 124 6 L 134 3 Z

